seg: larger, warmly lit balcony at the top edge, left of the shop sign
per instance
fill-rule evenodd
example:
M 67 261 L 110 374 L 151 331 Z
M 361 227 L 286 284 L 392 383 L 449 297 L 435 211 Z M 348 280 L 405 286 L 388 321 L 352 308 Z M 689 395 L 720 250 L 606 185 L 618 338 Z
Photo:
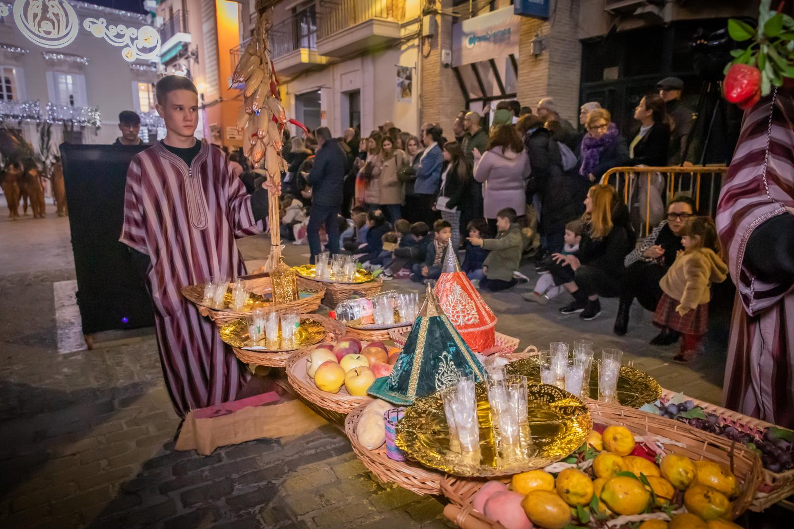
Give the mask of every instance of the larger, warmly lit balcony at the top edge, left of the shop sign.
M 400 38 L 404 0 L 320 0 L 317 51 L 344 57 Z

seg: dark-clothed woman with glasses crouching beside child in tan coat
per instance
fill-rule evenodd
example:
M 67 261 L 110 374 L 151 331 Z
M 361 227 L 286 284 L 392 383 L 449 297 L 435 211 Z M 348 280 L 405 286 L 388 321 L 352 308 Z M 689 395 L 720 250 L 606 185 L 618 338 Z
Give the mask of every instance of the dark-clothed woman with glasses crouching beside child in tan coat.
M 686 195 L 679 195 L 667 206 L 667 218 L 653 228 L 637 249 L 623 260 L 626 267 L 623 292 L 620 295 L 618 315 L 615 318 L 615 334 L 626 334 L 629 326 L 629 312 L 634 298 L 646 311 L 656 311 L 661 299 L 659 280 L 676 260 L 676 254 L 683 250 L 680 230 L 690 217 L 696 213 L 695 201 Z M 669 346 L 675 343 L 679 334 L 664 328 L 651 340 L 654 346 Z

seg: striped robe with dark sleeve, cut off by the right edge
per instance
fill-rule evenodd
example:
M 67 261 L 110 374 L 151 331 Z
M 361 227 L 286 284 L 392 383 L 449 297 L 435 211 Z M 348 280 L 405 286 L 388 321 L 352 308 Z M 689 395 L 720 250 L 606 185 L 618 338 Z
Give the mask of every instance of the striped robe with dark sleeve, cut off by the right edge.
M 770 116 L 771 114 L 771 116 Z M 754 230 L 794 212 L 794 100 L 782 87 L 748 110 L 719 196 L 717 229 L 736 284 L 723 384 L 726 407 L 794 427 L 794 275 L 761 280 L 756 263 L 779 259 L 754 248 Z M 762 230 L 758 230 L 759 235 Z M 794 244 L 780 234 L 777 245 Z M 788 278 L 785 277 L 788 275 Z

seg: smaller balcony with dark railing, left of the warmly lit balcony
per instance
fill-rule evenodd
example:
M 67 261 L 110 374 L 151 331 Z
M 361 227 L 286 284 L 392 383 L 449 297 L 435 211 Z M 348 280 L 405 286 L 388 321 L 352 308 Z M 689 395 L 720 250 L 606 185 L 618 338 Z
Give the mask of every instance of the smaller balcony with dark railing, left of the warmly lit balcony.
M 270 56 L 281 75 L 295 75 L 328 58 L 317 52 L 317 17 L 314 6 L 273 25 Z

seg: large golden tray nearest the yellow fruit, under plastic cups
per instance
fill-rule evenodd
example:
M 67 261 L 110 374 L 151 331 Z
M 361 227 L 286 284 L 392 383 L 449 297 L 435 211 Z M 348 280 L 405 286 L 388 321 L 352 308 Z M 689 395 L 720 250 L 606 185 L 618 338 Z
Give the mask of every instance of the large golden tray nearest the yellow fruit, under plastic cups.
M 498 450 L 491 429 L 491 407 L 484 384 L 476 384 L 480 446 L 462 452 L 450 442 L 444 405 L 438 393 L 420 397 L 407 408 L 396 427 L 395 443 L 422 465 L 464 477 L 506 476 L 539 469 L 567 458 L 592 430 L 584 403 L 560 388 L 527 383 L 530 439 Z

